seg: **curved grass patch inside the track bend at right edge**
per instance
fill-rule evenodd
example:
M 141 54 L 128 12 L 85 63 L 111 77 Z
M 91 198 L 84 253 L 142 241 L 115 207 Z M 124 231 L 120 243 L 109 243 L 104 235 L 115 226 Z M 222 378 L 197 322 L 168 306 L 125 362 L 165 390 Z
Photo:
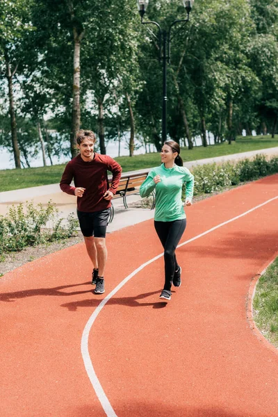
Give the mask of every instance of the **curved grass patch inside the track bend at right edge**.
M 278 347 L 278 257 L 259 279 L 253 306 L 257 327 Z

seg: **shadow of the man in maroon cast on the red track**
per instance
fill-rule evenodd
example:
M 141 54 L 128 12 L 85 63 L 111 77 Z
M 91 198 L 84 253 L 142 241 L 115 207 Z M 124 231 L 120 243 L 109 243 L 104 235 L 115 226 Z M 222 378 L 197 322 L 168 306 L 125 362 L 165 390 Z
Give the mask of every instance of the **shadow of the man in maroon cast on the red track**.
M 13 293 L 1 293 L 0 294 L 0 301 L 3 302 L 15 302 L 15 300 L 18 300 L 19 298 L 26 298 L 26 297 L 33 297 L 35 295 L 54 295 L 56 296 L 63 296 L 68 297 L 69 295 L 79 295 L 79 294 L 85 294 L 90 293 L 90 290 L 85 291 L 72 291 L 70 293 L 64 292 L 62 290 L 65 290 L 65 288 L 72 288 L 75 286 L 81 286 L 81 285 L 87 285 L 90 284 L 90 282 L 83 282 L 81 284 L 72 284 L 72 285 L 61 285 L 54 288 L 35 288 L 33 290 L 24 290 L 24 291 L 15 291 Z

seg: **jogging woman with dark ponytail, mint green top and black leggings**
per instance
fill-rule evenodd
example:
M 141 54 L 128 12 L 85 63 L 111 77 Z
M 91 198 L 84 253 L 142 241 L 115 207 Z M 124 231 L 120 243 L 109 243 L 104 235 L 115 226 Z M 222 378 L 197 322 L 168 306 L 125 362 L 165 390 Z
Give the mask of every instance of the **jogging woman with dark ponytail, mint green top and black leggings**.
M 154 227 L 164 248 L 165 284 L 160 295 L 171 300 L 171 286 L 181 286 L 181 267 L 177 263 L 175 250 L 186 229 L 186 214 L 181 201 L 181 188 L 186 183 L 186 206 L 191 206 L 194 177 L 183 167 L 180 147 L 174 140 L 164 142 L 161 150 L 161 165 L 153 168 L 142 186 L 141 197 L 156 190 Z

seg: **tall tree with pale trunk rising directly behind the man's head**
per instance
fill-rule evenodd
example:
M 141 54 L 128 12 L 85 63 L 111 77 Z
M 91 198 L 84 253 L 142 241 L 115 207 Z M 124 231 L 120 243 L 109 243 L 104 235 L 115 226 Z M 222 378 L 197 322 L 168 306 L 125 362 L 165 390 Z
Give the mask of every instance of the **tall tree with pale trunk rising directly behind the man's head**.
M 86 29 L 90 28 L 88 21 L 94 15 L 95 2 L 92 0 L 34 1 L 36 7 L 33 16 L 39 33 L 38 44 L 41 49 L 47 47 L 44 59 L 47 67 L 54 70 L 54 76 L 57 77 L 56 86 L 59 84 L 60 92 L 63 91 L 64 83 L 68 92 L 70 72 L 67 70 L 68 66 L 65 67 L 65 62 L 70 63 L 71 59 L 68 54 L 72 54 L 72 98 L 70 99 L 67 93 L 65 108 L 68 110 L 71 104 L 70 148 L 74 157 L 77 152 L 76 132 L 81 126 L 81 41 Z M 59 56 L 58 51 L 60 51 Z M 67 57 L 65 57 L 65 52 Z M 62 62 L 61 56 L 65 57 Z M 60 71 L 62 74 L 58 74 Z

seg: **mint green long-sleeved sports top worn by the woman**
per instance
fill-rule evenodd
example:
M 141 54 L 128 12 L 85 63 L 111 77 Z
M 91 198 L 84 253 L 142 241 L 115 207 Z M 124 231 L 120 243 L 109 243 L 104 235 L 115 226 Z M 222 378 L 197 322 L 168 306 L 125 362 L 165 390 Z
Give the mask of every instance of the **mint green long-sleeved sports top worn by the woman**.
M 160 175 L 161 181 L 157 184 L 154 177 Z M 140 186 L 140 196 L 147 197 L 156 191 L 156 210 L 154 220 L 158 222 L 172 222 L 186 218 L 181 201 L 181 188 L 186 183 L 186 199 L 192 199 L 194 176 L 186 167 L 174 165 L 165 168 L 164 163 L 149 171 L 145 181 Z

